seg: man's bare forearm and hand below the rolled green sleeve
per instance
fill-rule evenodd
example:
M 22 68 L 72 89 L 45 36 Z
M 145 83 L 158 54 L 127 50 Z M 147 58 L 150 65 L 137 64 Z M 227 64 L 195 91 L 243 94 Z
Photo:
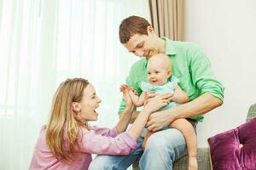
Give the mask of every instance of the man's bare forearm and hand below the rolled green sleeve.
M 158 131 L 178 118 L 199 116 L 208 111 L 212 111 L 212 109 L 222 104 L 223 101 L 214 97 L 212 94 L 202 94 L 189 103 L 178 105 L 169 110 L 154 112 L 149 116 L 149 121 L 147 123 L 148 130 Z

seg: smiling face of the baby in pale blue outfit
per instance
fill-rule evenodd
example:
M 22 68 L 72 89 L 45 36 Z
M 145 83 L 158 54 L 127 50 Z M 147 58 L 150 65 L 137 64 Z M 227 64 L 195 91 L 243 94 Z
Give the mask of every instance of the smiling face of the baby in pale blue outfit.
M 170 69 L 160 65 L 157 62 L 148 62 L 148 82 L 156 86 L 164 85 L 167 82 L 168 77 L 171 76 Z

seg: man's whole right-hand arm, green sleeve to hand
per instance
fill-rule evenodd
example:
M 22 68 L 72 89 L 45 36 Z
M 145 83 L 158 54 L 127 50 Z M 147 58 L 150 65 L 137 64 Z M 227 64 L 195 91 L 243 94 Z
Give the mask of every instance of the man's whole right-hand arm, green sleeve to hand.
M 187 49 L 186 61 L 191 80 L 189 85 L 199 89 L 199 95 L 192 101 L 177 105 L 166 111 L 157 111 L 149 116 L 148 129 L 157 131 L 177 118 L 200 116 L 223 104 L 224 87 L 213 76 L 210 60 L 198 46 Z M 186 72 L 186 71 L 184 71 Z M 183 83 L 183 82 L 180 82 Z

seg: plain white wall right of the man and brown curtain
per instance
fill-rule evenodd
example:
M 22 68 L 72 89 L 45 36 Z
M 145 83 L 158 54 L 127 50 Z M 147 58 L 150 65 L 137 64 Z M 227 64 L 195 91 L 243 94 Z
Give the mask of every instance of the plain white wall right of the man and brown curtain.
M 197 0 L 185 3 L 185 41 L 201 45 L 225 87 L 224 105 L 198 126 L 199 146 L 207 138 L 245 122 L 256 103 L 256 1 Z

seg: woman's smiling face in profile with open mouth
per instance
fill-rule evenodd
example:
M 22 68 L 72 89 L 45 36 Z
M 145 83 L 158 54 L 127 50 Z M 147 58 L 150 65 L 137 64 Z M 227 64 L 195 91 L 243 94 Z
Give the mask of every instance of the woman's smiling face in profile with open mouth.
M 95 88 L 91 84 L 88 84 L 84 88 L 83 98 L 79 103 L 79 113 L 84 121 L 96 121 L 98 119 L 98 113 L 95 110 L 101 102 L 102 100 L 96 95 Z

